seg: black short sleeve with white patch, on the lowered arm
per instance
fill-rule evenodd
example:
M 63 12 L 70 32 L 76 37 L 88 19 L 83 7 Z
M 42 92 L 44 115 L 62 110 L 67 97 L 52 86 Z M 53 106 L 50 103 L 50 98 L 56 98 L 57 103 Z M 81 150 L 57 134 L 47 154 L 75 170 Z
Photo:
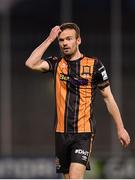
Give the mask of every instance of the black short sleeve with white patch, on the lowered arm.
M 95 82 L 101 90 L 110 85 L 106 69 L 99 59 L 95 62 Z

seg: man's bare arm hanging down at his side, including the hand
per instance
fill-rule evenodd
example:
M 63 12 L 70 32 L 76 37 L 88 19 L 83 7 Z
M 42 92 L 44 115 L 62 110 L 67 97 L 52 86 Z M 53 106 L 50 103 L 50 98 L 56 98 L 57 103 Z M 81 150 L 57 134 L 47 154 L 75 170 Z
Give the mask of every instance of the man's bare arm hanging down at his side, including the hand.
M 121 117 L 119 108 L 117 106 L 117 103 L 111 92 L 110 86 L 105 87 L 104 89 L 100 90 L 100 92 L 103 96 L 107 110 L 114 120 L 116 129 L 117 129 L 118 138 L 121 144 L 124 147 L 127 147 L 130 143 L 130 136 L 128 132 L 126 131 L 126 129 L 124 128 L 122 117 Z

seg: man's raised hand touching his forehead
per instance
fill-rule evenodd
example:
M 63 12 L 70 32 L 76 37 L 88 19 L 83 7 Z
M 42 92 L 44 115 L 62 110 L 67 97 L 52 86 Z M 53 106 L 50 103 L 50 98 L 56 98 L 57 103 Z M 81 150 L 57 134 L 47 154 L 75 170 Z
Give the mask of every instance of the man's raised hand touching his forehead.
M 51 42 L 53 42 L 59 35 L 59 33 L 61 32 L 60 26 L 55 26 L 54 28 L 52 28 L 48 38 Z

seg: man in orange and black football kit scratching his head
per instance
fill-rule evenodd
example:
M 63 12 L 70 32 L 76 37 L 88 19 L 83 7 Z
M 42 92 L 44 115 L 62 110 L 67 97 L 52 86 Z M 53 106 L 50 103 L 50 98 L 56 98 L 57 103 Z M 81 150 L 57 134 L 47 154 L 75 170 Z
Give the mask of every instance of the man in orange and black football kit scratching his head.
M 56 38 L 62 57 L 43 60 L 43 54 Z M 26 61 L 26 66 L 32 70 L 54 73 L 56 170 L 68 179 L 83 178 L 85 170 L 90 169 L 88 160 L 95 134 L 93 101 L 96 88 L 114 120 L 120 143 L 124 147 L 130 143 L 105 67 L 97 58 L 84 56 L 79 50 L 80 44 L 79 27 L 74 23 L 64 23 L 55 26 Z

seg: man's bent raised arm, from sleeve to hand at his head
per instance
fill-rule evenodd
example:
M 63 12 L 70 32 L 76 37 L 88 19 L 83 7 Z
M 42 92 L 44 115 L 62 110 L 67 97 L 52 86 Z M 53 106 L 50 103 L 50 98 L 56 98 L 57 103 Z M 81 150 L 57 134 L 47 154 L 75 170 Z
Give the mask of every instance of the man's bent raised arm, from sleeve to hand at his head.
M 51 45 L 51 43 L 57 38 L 58 34 L 61 32 L 59 26 L 55 26 L 47 39 L 42 42 L 29 56 L 29 58 L 26 60 L 25 65 L 29 67 L 32 70 L 37 71 L 48 71 L 49 70 L 49 64 L 47 61 L 44 61 L 42 59 L 43 54 L 48 49 L 48 47 Z

